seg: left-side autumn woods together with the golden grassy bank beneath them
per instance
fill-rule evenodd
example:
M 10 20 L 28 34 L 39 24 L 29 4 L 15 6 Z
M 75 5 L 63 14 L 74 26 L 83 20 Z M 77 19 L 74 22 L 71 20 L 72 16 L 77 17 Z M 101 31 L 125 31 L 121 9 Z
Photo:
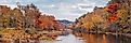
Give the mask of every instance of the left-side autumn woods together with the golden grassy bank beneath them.
M 42 14 L 32 3 L 15 9 L 0 5 L 0 35 L 3 40 L 55 39 L 63 29 L 54 16 Z

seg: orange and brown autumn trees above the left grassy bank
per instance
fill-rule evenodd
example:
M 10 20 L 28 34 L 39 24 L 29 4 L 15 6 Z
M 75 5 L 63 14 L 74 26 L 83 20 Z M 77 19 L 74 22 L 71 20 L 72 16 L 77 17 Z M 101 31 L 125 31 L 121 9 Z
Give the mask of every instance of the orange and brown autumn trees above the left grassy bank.
M 6 5 L 0 5 L 0 27 L 11 26 L 13 28 L 63 29 L 54 16 L 42 14 L 35 4 L 18 5 L 13 10 Z

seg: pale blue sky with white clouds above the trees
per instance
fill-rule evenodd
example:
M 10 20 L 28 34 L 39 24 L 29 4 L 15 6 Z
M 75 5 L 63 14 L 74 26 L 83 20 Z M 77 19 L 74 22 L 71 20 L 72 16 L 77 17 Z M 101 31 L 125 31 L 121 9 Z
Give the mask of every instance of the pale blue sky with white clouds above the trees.
M 23 5 L 34 3 L 40 12 L 53 15 L 56 19 L 74 22 L 81 15 L 92 12 L 94 6 L 105 6 L 109 0 L 0 0 L 0 4 L 15 8 L 16 1 Z

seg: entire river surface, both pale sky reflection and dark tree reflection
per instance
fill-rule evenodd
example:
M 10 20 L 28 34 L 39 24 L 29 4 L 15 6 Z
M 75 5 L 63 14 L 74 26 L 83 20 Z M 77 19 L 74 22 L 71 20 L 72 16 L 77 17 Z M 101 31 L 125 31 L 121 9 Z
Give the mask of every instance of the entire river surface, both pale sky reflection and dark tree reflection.
M 37 41 L 28 43 L 131 43 L 131 38 L 125 35 L 83 34 L 81 38 L 68 34 L 60 35 L 54 41 Z

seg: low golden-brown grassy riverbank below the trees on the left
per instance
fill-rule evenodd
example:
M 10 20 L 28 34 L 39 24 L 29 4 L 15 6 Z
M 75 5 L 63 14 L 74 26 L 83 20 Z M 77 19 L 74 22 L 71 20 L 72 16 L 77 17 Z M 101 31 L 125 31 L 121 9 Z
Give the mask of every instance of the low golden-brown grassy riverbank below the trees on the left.
M 28 42 L 29 40 L 45 40 L 52 41 L 55 40 L 62 31 L 32 31 L 32 33 L 27 33 L 25 30 L 16 29 L 2 29 L 0 30 L 0 41 L 1 42 L 11 42 L 11 41 L 24 41 Z

